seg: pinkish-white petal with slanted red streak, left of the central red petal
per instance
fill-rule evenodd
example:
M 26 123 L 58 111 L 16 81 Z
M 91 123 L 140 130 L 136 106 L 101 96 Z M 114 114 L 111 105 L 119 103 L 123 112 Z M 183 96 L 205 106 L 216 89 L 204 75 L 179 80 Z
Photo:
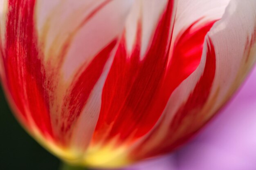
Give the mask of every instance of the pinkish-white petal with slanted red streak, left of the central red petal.
M 48 76 L 54 77 L 52 124 L 58 138 L 71 146 L 86 148 L 90 141 L 112 51 L 116 50 L 132 2 L 60 1 L 48 19 L 40 18 L 45 21 L 38 24 L 45 66 Z M 39 1 L 38 7 L 47 8 L 47 2 Z

